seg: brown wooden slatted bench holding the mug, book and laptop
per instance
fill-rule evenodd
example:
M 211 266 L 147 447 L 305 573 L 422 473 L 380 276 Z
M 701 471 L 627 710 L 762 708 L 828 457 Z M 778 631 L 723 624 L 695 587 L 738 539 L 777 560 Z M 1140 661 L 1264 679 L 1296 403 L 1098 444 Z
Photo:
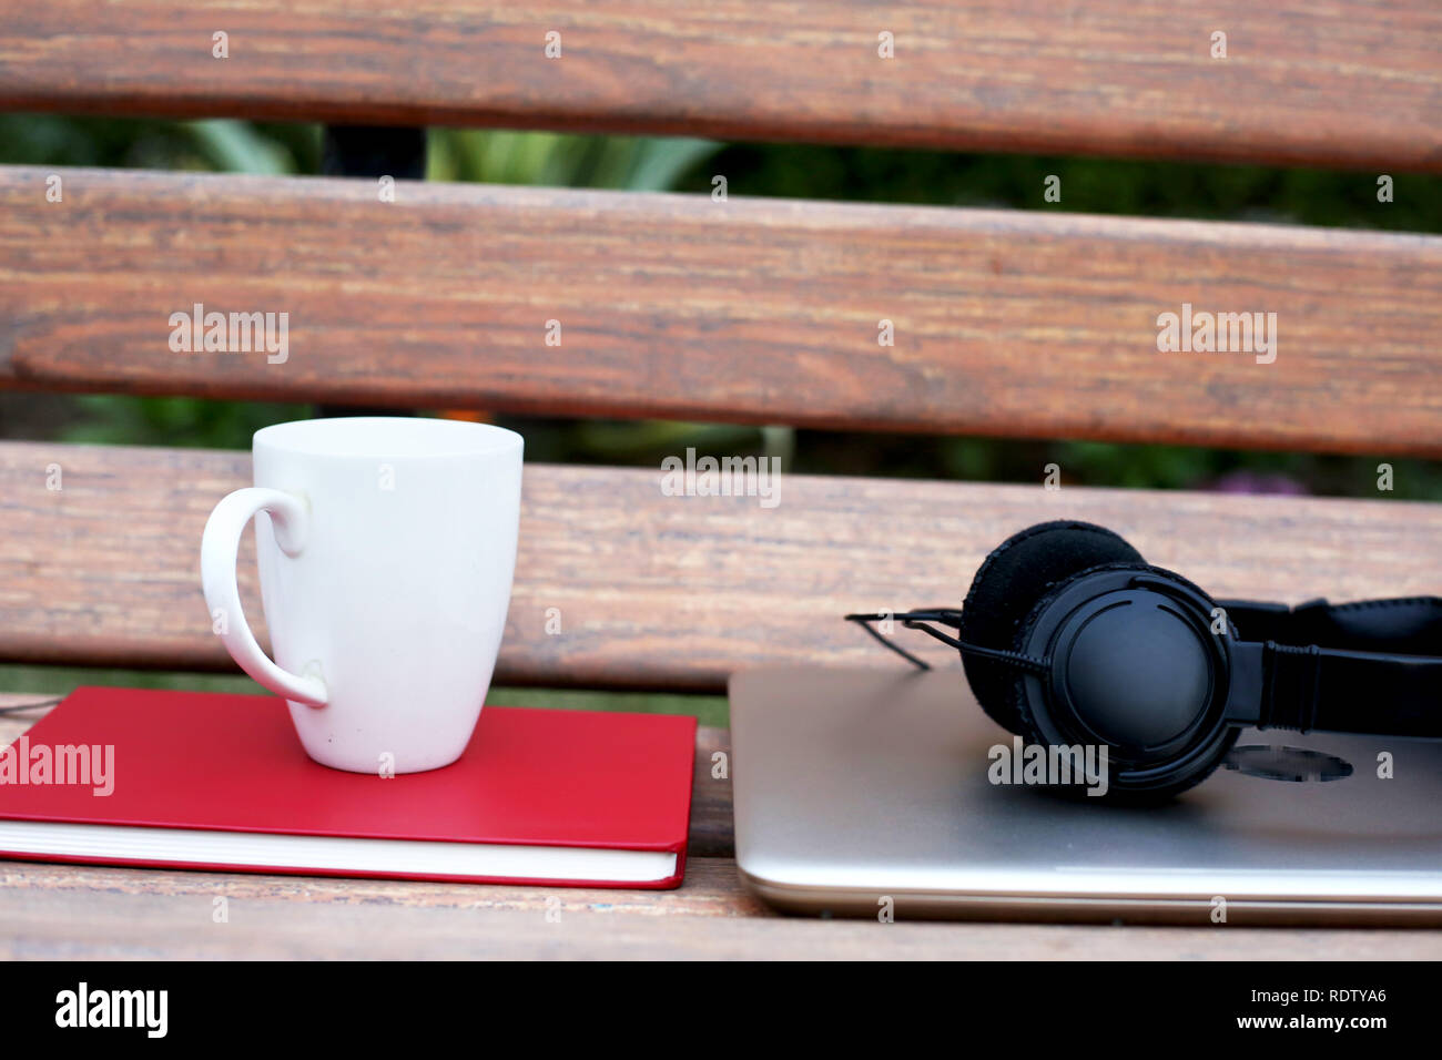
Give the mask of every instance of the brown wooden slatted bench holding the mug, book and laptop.
M 229 59 L 211 55 L 229 35 Z M 1229 58 L 1213 59 L 1214 30 Z M 562 56 L 544 55 L 561 35 Z M 878 35 L 895 58 L 878 58 Z M 0 108 L 470 124 L 1442 172 L 1442 19 L 1216 0 L 626 6 L 0 3 Z M 709 196 L 0 169 L 0 387 L 1442 454 L 1442 239 Z M 1038 196 L 1041 189 L 1037 189 Z M 290 358 L 173 353 L 193 303 L 290 313 Z M 1182 303 L 1279 356 L 1158 353 Z M 564 342 L 544 342 L 561 320 Z M 880 346 L 891 320 L 895 345 Z M 63 489 L 46 489 L 59 464 Z M 1037 470 L 1038 479 L 1041 469 Z M 0 662 L 232 669 L 199 597 L 244 453 L 0 444 Z M 838 616 L 959 600 L 1043 518 L 1116 528 L 1217 596 L 1438 591 L 1442 506 L 822 479 L 782 502 L 529 466 L 505 684 L 717 692 L 887 665 Z M 242 591 L 258 616 L 254 560 Z M 565 635 L 548 636 L 547 607 Z M 46 707 L 3 697 L 0 741 Z M 0 862 L 4 956 L 1439 956 L 1442 933 L 890 924 L 740 887 L 702 730 L 673 893 Z M 211 898 L 231 924 L 211 923 Z M 545 903 L 559 897 L 559 924 Z

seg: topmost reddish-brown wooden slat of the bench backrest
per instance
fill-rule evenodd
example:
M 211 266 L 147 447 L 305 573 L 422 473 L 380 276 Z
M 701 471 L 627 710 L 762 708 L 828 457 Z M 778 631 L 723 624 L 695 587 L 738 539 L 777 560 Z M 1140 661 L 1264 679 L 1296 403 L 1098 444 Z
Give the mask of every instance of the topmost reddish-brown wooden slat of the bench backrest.
M 0 107 L 1438 172 L 1439 49 L 1430 0 L 7 0 Z

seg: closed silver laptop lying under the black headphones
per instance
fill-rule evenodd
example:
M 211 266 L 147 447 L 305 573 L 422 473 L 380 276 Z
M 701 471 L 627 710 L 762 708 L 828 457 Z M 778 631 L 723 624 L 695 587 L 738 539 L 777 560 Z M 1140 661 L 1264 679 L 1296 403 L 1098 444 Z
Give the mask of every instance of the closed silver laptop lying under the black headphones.
M 1324 751 L 1351 773 L 1265 779 L 1246 763 L 1268 756 L 1244 751 L 1247 772 L 1119 808 L 1015 783 L 995 750 L 1012 736 L 959 663 L 756 669 L 730 695 L 737 862 L 784 910 L 1442 923 L 1442 743 L 1247 731 L 1239 747 Z

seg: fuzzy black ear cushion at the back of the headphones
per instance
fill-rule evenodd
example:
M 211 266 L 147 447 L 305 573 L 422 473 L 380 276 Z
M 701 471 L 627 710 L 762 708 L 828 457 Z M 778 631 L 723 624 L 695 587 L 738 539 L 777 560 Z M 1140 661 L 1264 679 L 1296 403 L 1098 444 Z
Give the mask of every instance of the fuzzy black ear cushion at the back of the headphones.
M 962 640 L 1018 650 L 1024 620 L 1054 586 L 1077 571 L 1113 562 L 1145 561 L 1120 535 L 1090 522 L 1058 519 L 1012 534 L 972 578 L 962 604 Z M 1025 736 L 1014 705 L 1017 671 L 976 656 L 962 656 L 962 665 L 972 694 L 992 721 Z

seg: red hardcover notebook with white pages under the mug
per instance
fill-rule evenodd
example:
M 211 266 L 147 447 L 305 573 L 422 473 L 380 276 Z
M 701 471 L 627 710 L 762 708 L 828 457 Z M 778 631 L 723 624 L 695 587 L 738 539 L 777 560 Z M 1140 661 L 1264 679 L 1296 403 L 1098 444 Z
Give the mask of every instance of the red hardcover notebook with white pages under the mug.
M 81 688 L 0 750 L 0 857 L 676 887 L 696 720 L 486 707 L 453 766 L 342 773 L 283 699 Z

